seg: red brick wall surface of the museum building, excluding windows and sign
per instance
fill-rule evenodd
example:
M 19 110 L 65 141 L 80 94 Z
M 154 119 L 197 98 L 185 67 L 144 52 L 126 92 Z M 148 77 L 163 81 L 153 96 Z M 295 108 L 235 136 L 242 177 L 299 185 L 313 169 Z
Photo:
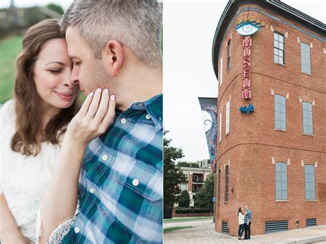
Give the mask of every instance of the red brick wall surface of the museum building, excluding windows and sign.
M 248 5 L 241 8 L 247 8 Z M 250 5 L 259 8 L 260 6 Z M 263 21 L 268 28 L 261 28 L 252 35 L 251 89 L 252 99 L 241 98 L 243 79 L 243 36 L 235 30 L 235 23 L 247 17 L 239 14 L 228 30 L 221 47 L 223 55 L 223 83 L 219 86 L 218 114 L 222 112 L 222 139 L 217 146 L 217 172 L 221 169 L 221 204 L 217 205 L 216 230 L 221 232 L 221 221 L 228 221 L 230 234 L 237 235 L 237 210 L 250 205 L 252 234 L 263 234 L 265 221 L 288 220 L 289 229 L 305 227 L 306 218 L 317 218 L 318 225 L 326 224 L 326 79 L 325 43 L 290 26 L 270 19 L 259 12 L 249 12 L 249 18 Z M 277 16 L 279 17 L 279 16 Z M 294 26 L 311 32 L 283 17 Z M 272 28 L 271 28 L 272 26 Z M 274 63 L 273 31 L 286 34 L 285 65 Z M 318 34 L 314 33 L 316 36 Z M 230 70 L 226 71 L 226 43 L 231 38 Z M 301 50 L 298 39 L 311 45 L 311 74 L 301 72 Z M 220 65 L 220 62 L 218 62 Z M 220 72 L 220 70 L 219 70 Z M 287 130 L 274 129 L 274 95 L 286 99 Z M 300 98 L 299 98 L 300 97 Z M 230 134 L 226 132 L 226 101 L 230 99 Z M 301 101 L 314 101 L 312 109 L 314 135 L 303 135 Z M 241 114 L 239 108 L 249 103 L 255 111 Z M 218 130 L 219 131 L 219 130 Z M 275 201 L 275 164 L 287 165 L 287 201 Z M 315 165 L 316 201 L 305 200 L 303 163 Z M 317 163 L 315 163 L 317 162 Z M 224 203 L 225 166 L 229 165 L 229 201 Z M 231 192 L 231 187 L 234 192 Z M 217 191 L 216 191 L 217 192 Z

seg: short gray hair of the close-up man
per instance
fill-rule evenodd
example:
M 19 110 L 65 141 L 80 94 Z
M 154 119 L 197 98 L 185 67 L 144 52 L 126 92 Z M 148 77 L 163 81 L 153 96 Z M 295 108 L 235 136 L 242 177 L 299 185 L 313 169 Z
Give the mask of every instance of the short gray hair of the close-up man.
M 162 3 L 156 0 L 76 0 L 61 19 L 61 30 L 78 28 L 96 59 L 116 39 L 151 68 L 162 65 Z

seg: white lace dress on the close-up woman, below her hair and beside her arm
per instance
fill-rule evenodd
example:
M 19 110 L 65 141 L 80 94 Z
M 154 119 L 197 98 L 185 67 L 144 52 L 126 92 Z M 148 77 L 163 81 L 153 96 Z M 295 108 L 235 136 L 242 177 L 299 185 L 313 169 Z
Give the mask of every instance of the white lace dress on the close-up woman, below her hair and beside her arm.
M 35 243 L 36 214 L 60 148 L 42 143 L 35 157 L 13 152 L 10 143 L 15 119 L 14 101 L 10 100 L 0 108 L 0 194 L 5 196 L 22 234 Z

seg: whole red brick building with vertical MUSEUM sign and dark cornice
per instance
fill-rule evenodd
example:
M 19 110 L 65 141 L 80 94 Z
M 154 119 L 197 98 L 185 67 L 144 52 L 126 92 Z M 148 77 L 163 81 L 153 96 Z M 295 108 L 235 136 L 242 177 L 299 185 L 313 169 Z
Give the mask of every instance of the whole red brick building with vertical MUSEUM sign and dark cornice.
M 326 225 L 325 35 L 280 1 L 228 2 L 213 42 L 217 232 L 236 236 L 246 204 L 252 235 Z

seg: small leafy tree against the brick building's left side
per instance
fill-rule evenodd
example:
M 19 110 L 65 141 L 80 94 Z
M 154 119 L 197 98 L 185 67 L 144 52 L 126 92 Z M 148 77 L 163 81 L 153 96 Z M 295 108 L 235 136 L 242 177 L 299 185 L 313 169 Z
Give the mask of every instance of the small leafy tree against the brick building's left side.
M 209 208 L 213 210 L 214 174 L 210 174 L 204 181 L 204 185 L 196 194 L 195 207 Z

